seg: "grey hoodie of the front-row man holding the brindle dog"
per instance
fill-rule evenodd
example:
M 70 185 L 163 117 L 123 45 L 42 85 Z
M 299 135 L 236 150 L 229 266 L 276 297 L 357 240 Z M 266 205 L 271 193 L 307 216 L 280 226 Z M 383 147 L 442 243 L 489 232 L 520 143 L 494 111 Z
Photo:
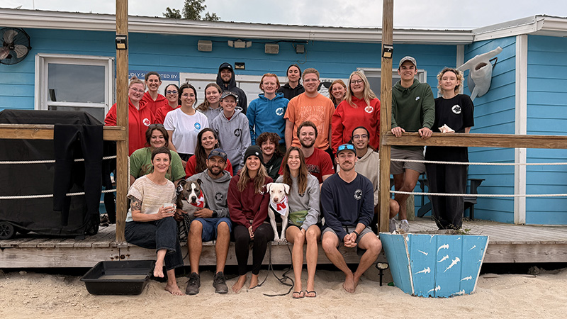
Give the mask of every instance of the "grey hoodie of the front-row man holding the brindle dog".
M 217 217 L 220 218 L 229 217 L 226 197 L 231 178 L 230 173 L 224 171 L 223 176 L 218 179 L 213 179 L 209 176 L 208 169 L 205 169 L 203 172 L 189 177 L 188 180 L 196 181 L 197 179 L 201 179 L 201 190 L 203 194 L 205 194 L 207 206 L 211 211 L 217 212 Z

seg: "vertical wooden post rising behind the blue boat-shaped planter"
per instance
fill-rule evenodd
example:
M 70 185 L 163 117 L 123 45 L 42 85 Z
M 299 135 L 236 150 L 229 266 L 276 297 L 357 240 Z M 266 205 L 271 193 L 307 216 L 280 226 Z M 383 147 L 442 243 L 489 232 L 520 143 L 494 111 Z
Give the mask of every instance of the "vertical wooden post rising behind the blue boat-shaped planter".
M 394 1 L 383 0 L 382 6 L 382 52 L 384 44 L 393 44 Z M 384 137 L 392 125 L 392 59 L 382 57 L 380 89 L 380 218 L 378 230 L 388 231 L 390 219 L 390 145 Z

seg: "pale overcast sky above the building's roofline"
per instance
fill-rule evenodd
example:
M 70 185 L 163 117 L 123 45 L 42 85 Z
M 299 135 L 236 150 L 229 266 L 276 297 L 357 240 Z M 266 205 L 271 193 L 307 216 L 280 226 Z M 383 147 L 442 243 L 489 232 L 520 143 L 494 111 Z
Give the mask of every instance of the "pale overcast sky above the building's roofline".
M 129 1 L 131 16 L 162 17 L 184 0 Z M 221 21 L 299 26 L 380 27 L 382 1 L 376 0 L 206 0 L 206 11 Z M 116 11 L 114 0 L 0 0 L 0 8 L 86 13 Z M 535 15 L 567 17 L 566 0 L 394 0 L 394 28 L 471 29 Z M 204 16 L 204 12 L 203 12 Z

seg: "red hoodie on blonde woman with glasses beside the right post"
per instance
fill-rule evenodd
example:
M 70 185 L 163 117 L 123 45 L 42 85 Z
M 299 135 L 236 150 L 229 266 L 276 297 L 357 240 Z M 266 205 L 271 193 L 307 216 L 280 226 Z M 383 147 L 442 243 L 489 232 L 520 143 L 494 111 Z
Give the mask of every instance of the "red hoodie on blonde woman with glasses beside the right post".
M 378 150 L 380 101 L 372 99 L 370 105 L 367 105 L 364 99 L 352 96 L 352 102 L 357 107 L 351 106 L 347 101 L 342 101 L 332 115 L 332 151 L 336 153 L 340 145 L 350 142 L 352 130 L 359 126 L 364 126 L 369 131 L 369 145 L 374 147 L 374 150 Z

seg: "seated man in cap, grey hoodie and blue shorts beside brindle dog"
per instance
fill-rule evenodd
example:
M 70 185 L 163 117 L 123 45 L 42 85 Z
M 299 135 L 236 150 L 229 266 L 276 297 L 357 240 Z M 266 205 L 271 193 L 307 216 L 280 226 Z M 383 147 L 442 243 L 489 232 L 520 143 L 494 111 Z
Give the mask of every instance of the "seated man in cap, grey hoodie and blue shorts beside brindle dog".
M 220 148 L 210 151 L 206 160 L 207 169 L 190 177 L 191 181 L 201 180 L 203 192 L 208 208 L 196 211 L 195 219 L 191 221 L 187 247 L 189 247 L 189 262 L 191 263 L 191 276 L 185 292 L 189 295 L 199 293 L 201 277 L 199 276 L 199 259 L 203 250 L 203 241 L 215 240 L 217 269 L 213 277 L 215 293 L 228 293 L 225 271 L 228 247 L 230 246 L 230 231 L 232 225 L 228 217 L 226 202 L 230 172 L 225 170 L 227 155 Z

